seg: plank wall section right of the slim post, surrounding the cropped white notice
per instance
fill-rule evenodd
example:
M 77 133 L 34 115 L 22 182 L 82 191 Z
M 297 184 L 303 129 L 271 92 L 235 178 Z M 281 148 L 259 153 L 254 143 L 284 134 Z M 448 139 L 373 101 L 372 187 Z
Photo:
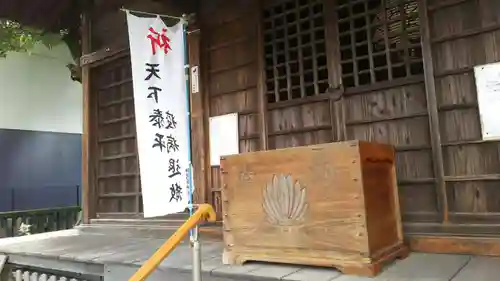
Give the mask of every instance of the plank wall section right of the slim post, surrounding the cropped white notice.
M 483 141 L 473 67 L 500 61 L 500 2 L 429 1 L 448 232 L 498 235 L 499 143 Z M 473 226 L 473 224 L 477 226 Z

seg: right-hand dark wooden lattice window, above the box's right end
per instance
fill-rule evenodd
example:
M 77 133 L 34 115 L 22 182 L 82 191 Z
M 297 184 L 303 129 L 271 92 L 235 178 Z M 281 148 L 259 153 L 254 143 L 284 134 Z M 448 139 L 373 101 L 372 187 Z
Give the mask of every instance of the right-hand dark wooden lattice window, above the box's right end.
M 423 73 L 416 0 L 339 0 L 344 87 Z

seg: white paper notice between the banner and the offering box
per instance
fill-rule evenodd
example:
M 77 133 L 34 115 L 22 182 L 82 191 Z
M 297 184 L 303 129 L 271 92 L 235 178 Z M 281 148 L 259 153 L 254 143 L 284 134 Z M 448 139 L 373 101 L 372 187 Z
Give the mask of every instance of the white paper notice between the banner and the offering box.
M 210 117 L 210 165 L 219 166 L 220 157 L 240 153 L 238 114 Z

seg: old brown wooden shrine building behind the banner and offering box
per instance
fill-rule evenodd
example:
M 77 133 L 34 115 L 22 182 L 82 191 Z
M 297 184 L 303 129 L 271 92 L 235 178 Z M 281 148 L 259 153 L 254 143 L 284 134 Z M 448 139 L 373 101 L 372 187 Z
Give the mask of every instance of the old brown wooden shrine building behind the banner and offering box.
M 500 255 L 500 143 L 482 139 L 473 72 L 500 61 L 500 1 L 94 0 L 80 1 L 81 22 L 76 1 L 5 2 L 0 16 L 81 28 L 86 222 L 141 218 L 124 7 L 192 14 L 195 200 L 220 220 L 208 119 L 238 113 L 241 153 L 394 145 L 412 249 Z

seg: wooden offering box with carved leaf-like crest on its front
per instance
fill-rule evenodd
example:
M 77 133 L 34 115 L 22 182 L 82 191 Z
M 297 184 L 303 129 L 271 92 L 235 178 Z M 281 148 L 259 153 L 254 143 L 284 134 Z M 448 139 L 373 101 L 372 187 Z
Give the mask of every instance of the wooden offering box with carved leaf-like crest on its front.
M 375 276 L 405 258 L 394 150 L 360 141 L 221 160 L 224 263 L 336 267 Z

